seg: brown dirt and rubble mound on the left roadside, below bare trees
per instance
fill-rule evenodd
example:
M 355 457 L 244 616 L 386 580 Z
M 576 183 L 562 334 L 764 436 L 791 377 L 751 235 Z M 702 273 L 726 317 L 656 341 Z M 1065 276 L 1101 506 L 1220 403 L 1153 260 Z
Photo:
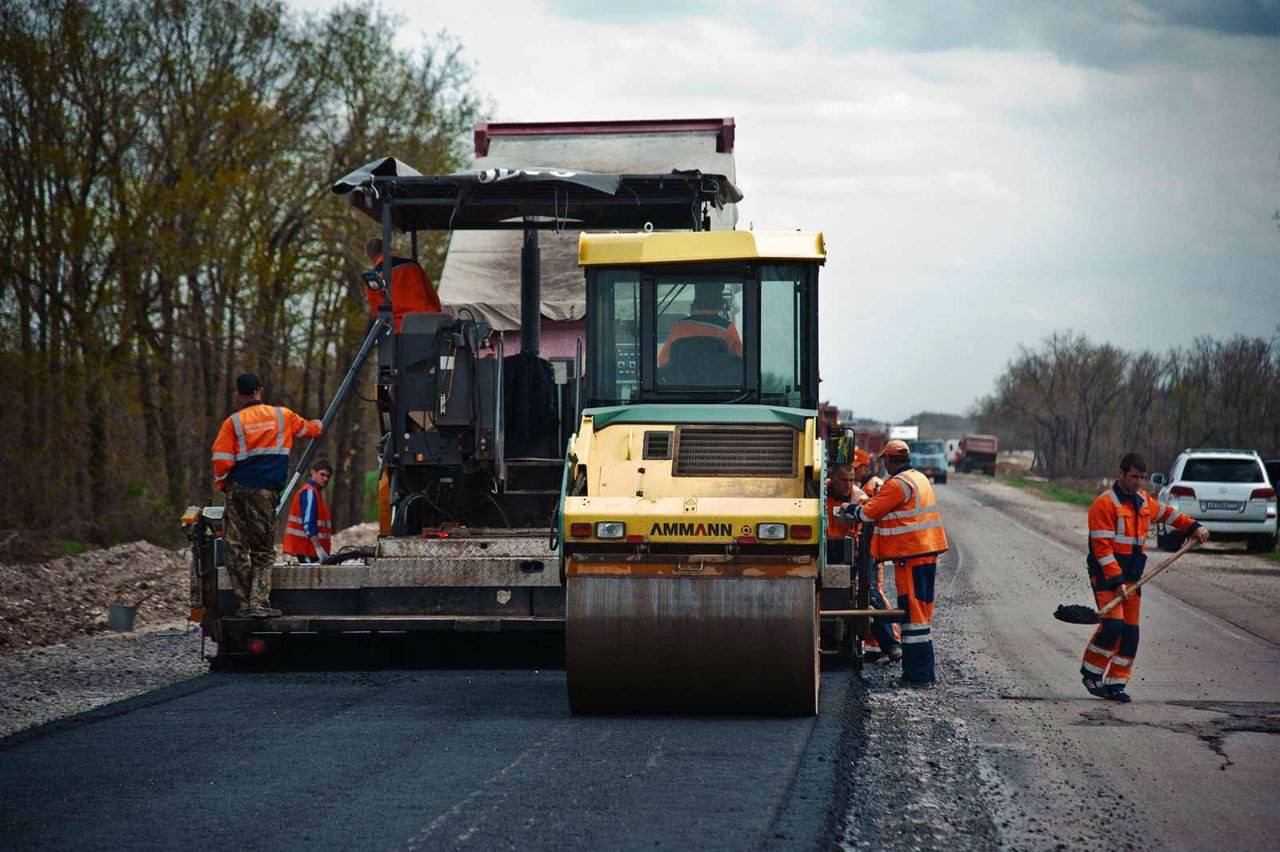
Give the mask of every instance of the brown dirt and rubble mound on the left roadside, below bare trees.
M 111 604 L 138 605 L 138 627 L 186 618 L 187 564 L 187 550 L 146 541 L 36 564 L 0 563 L 0 654 L 105 631 Z

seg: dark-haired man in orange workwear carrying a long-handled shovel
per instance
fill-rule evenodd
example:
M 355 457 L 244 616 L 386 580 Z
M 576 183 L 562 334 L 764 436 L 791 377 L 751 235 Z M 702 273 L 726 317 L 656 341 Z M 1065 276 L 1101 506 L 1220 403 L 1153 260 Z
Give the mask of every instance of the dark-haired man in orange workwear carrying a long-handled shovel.
M 1147 565 L 1143 549 L 1148 527 L 1152 522 L 1167 523 L 1201 544 L 1208 541 L 1208 530 L 1147 494 L 1142 487 L 1146 478 L 1147 459 L 1129 453 L 1120 459 L 1120 476 L 1089 507 L 1089 555 L 1085 564 L 1093 597 L 1100 609 L 1117 595 L 1124 603 L 1098 622 L 1084 649 L 1080 677 L 1089 695 L 1120 704 L 1130 701 L 1125 686 L 1138 652 L 1142 608 L 1142 590 L 1129 591 L 1129 585 L 1142 578 Z

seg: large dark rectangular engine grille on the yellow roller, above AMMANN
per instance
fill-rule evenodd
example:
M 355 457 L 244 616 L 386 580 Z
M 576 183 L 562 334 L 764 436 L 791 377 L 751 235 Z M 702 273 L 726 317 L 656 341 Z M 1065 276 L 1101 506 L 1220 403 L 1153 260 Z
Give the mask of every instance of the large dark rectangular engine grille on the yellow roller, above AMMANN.
M 794 477 L 796 432 L 786 427 L 686 426 L 676 432 L 673 476 Z

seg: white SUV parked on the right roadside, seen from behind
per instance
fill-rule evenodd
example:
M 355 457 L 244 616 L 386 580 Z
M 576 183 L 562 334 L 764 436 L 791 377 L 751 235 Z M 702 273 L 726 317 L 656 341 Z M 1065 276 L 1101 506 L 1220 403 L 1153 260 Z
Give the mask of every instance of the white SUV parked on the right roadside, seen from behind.
M 1199 521 L 1217 541 L 1245 541 L 1251 553 L 1276 548 L 1276 491 L 1253 450 L 1187 449 L 1169 472 L 1156 473 L 1158 499 Z M 1162 550 L 1176 550 L 1183 535 L 1157 525 Z

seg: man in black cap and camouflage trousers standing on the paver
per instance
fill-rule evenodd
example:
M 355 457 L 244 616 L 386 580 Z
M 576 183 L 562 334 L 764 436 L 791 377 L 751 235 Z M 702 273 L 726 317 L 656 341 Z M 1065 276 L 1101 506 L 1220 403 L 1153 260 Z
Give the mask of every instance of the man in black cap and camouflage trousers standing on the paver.
M 214 439 L 214 486 L 227 508 L 227 573 L 239 609 L 237 618 L 279 615 L 271 609 L 275 562 L 275 504 L 289 475 L 296 436 L 320 438 L 319 420 L 262 402 L 262 383 L 252 372 L 236 379 L 239 411 L 223 421 Z

